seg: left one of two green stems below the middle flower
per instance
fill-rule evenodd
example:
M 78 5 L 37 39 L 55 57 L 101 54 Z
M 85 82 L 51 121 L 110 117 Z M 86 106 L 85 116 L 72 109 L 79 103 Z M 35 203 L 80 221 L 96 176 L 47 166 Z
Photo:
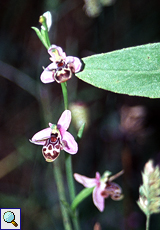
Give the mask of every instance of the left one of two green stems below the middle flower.
M 58 194 L 59 194 L 59 200 L 60 200 L 60 207 L 61 207 L 61 212 L 62 212 L 62 219 L 63 219 L 64 229 L 65 230 L 72 230 L 72 226 L 71 226 L 71 223 L 70 223 L 70 219 L 69 219 L 67 209 L 63 204 L 63 203 L 66 202 L 66 197 L 65 197 L 63 178 L 62 178 L 62 172 L 61 172 L 61 169 L 60 169 L 59 160 L 60 159 L 57 159 L 54 162 L 53 172 L 54 172 L 54 177 L 55 177 L 55 181 L 56 181 L 57 189 L 58 189 Z

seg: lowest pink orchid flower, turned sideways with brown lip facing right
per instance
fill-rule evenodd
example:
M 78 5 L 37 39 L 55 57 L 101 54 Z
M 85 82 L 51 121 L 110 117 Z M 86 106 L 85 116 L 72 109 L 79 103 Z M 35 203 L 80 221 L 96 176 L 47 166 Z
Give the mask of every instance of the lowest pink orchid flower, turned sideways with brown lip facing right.
M 102 177 L 99 172 L 96 172 L 95 178 L 88 178 L 86 176 L 75 173 L 74 178 L 76 181 L 83 184 L 84 187 L 94 187 L 92 193 L 93 203 L 100 212 L 103 212 L 105 198 L 108 198 L 109 196 L 113 200 L 121 200 L 123 198 L 121 187 L 118 184 L 112 182 L 112 180 L 120 176 L 122 173 L 123 170 L 110 178 L 109 175 L 111 173 L 109 171 L 105 172 Z

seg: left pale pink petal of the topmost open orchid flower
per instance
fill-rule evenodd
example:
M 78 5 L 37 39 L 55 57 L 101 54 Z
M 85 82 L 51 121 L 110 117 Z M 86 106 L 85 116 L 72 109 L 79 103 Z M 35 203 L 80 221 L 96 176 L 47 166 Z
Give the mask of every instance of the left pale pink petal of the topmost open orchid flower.
M 40 79 L 43 83 L 51 83 L 54 82 L 54 69 L 57 68 L 54 63 L 51 63 L 44 69 L 42 72 Z

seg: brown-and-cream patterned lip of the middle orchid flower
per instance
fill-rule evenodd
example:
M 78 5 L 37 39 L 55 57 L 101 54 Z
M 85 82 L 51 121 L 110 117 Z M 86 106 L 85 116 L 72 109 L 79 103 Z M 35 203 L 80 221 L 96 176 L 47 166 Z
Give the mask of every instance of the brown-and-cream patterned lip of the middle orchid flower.
M 52 133 L 42 148 L 42 154 L 47 162 L 52 162 L 59 156 L 62 149 L 58 133 Z

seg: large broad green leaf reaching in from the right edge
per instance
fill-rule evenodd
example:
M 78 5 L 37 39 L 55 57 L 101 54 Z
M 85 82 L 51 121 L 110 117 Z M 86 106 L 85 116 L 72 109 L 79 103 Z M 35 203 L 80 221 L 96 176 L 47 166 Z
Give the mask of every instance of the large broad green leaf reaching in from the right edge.
M 81 80 L 115 93 L 160 98 L 160 43 L 125 48 L 82 59 Z

